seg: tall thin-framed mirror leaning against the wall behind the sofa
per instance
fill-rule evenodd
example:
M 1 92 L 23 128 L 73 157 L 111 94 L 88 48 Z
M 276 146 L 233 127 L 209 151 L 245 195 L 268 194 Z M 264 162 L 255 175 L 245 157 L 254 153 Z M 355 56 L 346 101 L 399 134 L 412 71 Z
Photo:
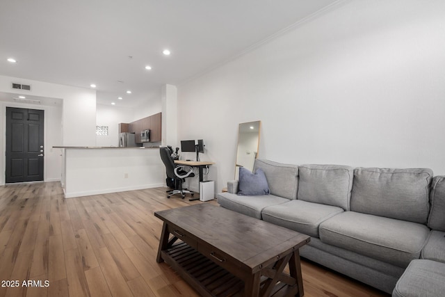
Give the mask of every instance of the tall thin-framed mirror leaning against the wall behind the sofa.
M 238 146 L 236 148 L 235 179 L 238 179 L 239 168 L 252 171 L 258 156 L 259 129 L 261 121 L 243 122 L 238 129 Z

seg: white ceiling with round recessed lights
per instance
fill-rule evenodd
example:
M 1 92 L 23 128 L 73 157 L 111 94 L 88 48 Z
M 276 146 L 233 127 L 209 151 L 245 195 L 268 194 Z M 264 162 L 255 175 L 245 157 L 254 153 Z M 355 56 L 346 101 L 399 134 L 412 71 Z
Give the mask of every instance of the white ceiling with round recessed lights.
M 95 83 L 98 103 L 136 106 L 339 2 L 1 0 L 0 75 Z

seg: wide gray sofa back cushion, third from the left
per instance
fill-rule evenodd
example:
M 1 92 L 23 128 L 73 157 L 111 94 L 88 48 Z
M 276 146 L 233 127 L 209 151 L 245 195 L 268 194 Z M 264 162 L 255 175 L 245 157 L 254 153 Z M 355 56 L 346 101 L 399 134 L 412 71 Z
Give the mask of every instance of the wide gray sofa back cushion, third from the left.
M 432 170 L 356 168 L 350 210 L 426 224 Z

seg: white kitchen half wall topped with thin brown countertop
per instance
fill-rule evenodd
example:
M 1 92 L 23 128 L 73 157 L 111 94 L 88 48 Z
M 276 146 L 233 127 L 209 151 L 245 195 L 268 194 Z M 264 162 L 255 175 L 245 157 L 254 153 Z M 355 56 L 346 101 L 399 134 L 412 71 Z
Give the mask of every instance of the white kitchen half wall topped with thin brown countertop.
M 165 186 L 159 146 L 53 148 L 62 156 L 65 198 Z

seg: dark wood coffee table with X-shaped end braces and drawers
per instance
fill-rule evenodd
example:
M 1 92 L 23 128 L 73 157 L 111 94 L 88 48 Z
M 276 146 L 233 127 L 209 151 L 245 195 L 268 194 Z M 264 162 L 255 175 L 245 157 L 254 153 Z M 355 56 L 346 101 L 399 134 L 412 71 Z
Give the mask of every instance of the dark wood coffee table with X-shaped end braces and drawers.
M 154 215 L 163 220 L 156 261 L 202 296 L 304 295 L 298 248 L 309 236 L 206 203 Z

